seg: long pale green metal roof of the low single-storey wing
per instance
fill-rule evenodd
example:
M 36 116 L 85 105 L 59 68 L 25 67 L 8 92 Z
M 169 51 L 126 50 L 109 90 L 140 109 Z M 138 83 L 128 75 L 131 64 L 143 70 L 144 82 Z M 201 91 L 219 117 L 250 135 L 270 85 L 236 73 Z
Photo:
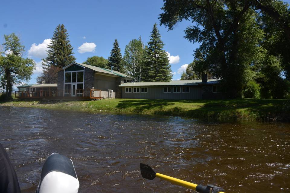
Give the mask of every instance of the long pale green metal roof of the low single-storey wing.
M 212 82 L 212 83 L 211 83 Z M 198 84 L 218 84 L 219 80 L 210 79 L 208 82 L 201 80 L 185 80 L 185 81 L 170 81 L 170 82 L 128 82 L 119 85 L 119 87 L 136 87 L 136 86 L 197 86 Z

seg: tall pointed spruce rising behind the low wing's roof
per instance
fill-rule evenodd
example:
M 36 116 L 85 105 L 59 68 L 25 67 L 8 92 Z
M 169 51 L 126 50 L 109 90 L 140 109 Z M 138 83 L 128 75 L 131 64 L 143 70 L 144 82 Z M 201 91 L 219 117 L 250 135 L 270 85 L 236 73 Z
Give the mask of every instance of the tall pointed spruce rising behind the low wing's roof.
M 168 55 L 163 50 L 163 42 L 157 29 L 157 24 L 153 26 L 150 41 L 146 48 L 145 63 L 143 68 L 143 80 L 150 82 L 169 82 L 171 81 L 171 66 L 169 65 Z

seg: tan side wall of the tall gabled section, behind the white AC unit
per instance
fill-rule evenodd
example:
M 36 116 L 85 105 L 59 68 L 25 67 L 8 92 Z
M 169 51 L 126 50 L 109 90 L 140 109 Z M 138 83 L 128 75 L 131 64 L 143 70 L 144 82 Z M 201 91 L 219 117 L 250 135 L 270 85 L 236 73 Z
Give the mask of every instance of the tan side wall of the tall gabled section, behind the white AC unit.
M 107 98 L 110 89 L 113 90 L 113 98 L 115 98 L 116 79 L 115 77 L 95 73 L 95 89 L 101 90 L 101 97 Z

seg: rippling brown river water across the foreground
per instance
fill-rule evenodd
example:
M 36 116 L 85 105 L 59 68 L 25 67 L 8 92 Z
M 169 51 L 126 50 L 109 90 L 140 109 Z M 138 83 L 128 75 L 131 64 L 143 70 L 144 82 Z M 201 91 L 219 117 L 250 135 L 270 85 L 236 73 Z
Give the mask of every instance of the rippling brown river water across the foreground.
M 193 192 L 155 172 L 226 192 L 290 192 L 289 123 L 220 123 L 180 117 L 1 107 L 0 142 L 24 193 L 51 153 L 72 159 L 79 192 Z

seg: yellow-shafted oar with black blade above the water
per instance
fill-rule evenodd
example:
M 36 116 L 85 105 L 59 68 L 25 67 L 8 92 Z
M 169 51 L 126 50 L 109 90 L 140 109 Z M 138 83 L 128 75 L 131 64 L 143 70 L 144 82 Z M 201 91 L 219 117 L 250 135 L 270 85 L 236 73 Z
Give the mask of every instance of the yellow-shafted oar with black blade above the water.
M 140 163 L 140 170 L 141 170 L 142 177 L 149 180 L 153 180 L 155 177 L 157 177 L 157 178 L 169 181 L 171 183 L 195 190 L 200 193 L 224 193 L 224 189 L 218 186 L 214 186 L 210 184 L 208 184 L 207 186 L 197 185 L 194 183 L 186 182 L 184 180 L 180 180 L 180 179 L 172 178 L 170 176 L 166 176 L 160 173 L 156 173 L 153 171 L 153 169 L 150 166 L 145 165 L 143 163 Z

